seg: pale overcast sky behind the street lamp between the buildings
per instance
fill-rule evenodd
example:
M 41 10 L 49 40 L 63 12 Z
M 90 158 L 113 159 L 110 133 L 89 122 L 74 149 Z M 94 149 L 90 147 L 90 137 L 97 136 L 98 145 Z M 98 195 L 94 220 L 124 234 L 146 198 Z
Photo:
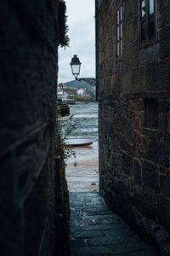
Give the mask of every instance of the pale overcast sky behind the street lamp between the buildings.
M 59 47 L 58 84 L 74 80 L 71 58 L 82 63 L 79 78 L 95 78 L 95 0 L 65 0 L 70 47 Z

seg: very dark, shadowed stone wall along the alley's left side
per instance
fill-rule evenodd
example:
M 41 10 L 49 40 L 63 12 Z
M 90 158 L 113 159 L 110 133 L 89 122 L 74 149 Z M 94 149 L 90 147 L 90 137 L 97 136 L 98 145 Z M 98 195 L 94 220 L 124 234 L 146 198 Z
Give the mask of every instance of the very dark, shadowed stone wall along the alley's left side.
M 1 255 L 52 256 L 58 228 L 54 226 L 59 183 L 54 170 L 58 1 L 6 0 L 0 7 Z M 55 255 L 60 255 L 59 247 Z

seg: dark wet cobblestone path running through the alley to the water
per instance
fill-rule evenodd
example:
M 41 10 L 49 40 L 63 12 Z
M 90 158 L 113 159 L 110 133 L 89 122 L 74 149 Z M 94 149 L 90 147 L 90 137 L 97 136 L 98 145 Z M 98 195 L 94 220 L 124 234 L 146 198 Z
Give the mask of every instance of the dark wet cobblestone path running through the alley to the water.
M 98 192 L 70 192 L 71 256 L 156 256 Z

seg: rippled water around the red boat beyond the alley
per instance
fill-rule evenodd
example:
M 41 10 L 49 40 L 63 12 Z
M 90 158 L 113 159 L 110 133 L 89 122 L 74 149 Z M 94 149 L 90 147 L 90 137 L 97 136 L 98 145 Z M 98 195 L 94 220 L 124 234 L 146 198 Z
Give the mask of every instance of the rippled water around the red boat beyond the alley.
M 69 137 L 94 137 L 94 143 L 88 147 L 73 148 L 76 153 L 66 164 L 66 178 L 70 191 L 98 191 L 98 103 L 79 103 L 70 105 L 73 114 L 72 125 L 77 129 Z

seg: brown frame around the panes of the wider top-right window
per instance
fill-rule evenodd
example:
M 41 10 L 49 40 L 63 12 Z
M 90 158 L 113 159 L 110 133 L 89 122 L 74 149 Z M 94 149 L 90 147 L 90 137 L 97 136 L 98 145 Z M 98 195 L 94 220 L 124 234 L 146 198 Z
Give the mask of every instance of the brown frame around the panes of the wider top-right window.
M 139 39 L 140 45 L 145 46 L 154 44 L 156 42 L 156 0 L 154 1 L 154 13 L 150 15 L 150 0 L 144 0 L 145 3 L 145 40 L 142 41 L 142 1 L 139 0 Z M 149 38 L 149 20 L 154 17 L 154 36 L 153 38 Z

